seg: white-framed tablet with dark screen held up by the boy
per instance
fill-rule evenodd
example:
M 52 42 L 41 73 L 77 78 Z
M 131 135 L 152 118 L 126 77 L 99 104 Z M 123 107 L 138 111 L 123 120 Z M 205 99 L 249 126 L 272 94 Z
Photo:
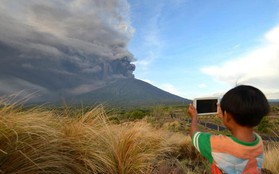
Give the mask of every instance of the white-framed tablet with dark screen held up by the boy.
M 217 114 L 219 101 L 218 97 L 195 98 L 193 105 L 197 109 L 198 115 L 212 115 Z

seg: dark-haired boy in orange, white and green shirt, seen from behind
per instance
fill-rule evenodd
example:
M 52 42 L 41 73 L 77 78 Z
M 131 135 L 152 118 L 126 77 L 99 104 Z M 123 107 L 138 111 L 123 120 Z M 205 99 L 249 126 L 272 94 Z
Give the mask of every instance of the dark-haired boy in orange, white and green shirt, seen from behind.
M 195 148 L 212 164 L 215 173 L 261 173 L 263 142 L 253 131 L 269 112 L 265 95 L 257 88 L 241 85 L 229 90 L 218 104 L 218 116 L 232 135 L 198 131 L 197 111 L 190 105 L 190 136 Z

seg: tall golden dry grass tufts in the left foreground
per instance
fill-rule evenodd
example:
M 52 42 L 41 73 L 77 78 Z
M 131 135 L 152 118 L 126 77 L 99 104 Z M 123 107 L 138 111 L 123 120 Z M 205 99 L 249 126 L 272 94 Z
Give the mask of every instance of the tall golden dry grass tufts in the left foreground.
M 102 106 L 76 117 L 0 109 L 0 173 L 158 173 L 190 141 L 145 121 L 110 124 Z

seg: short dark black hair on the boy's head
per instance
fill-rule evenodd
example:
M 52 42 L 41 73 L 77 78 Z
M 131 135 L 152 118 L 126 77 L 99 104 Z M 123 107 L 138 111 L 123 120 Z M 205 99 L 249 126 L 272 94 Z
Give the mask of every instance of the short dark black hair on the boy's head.
M 257 126 L 269 113 L 265 95 L 253 86 L 240 85 L 229 90 L 221 100 L 221 109 L 230 113 L 241 126 Z

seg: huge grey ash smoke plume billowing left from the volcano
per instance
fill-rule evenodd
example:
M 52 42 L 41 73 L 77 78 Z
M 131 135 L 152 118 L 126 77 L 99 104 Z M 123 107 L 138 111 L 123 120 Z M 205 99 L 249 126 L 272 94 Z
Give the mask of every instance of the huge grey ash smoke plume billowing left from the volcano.
M 0 94 L 82 94 L 134 78 L 126 0 L 0 2 Z

